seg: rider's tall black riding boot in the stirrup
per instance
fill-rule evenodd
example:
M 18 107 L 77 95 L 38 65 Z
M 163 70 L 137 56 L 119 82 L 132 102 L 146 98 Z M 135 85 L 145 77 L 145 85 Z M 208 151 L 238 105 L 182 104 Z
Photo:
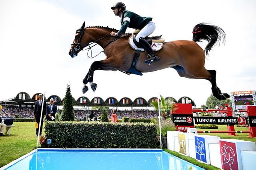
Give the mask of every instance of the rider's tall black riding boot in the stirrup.
M 154 53 L 154 50 L 149 45 L 149 42 L 147 42 L 144 38 L 140 37 L 139 45 L 144 48 L 144 50 L 147 52 L 147 55 L 150 56 L 150 59 L 145 60 L 145 63 L 151 65 L 154 61 L 159 61 L 160 57 L 156 56 Z

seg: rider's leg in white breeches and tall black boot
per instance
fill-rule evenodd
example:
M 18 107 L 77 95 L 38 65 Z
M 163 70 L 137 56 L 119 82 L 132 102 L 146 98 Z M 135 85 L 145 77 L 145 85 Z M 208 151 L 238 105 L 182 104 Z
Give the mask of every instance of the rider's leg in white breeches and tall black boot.
M 156 29 L 156 24 L 150 21 L 136 36 L 136 41 L 145 49 L 147 54 L 150 56 L 150 59 L 147 59 L 145 63 L 152 64 L 153 61 L 159 61 L 159 57 L 156 56 L 150 44 L 144 39 L 146 36 L 152 34 L 152 32 Z

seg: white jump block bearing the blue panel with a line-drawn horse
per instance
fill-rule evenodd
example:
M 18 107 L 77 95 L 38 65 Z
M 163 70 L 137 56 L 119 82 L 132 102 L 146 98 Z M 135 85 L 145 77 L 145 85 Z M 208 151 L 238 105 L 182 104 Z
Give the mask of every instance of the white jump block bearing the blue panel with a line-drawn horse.
M 214 154 L 215 150 L 209 149 L 209 144 L 216 144 L 216 146 L 219 147 L 219 139 L 220 137 L 218 136 L 195 135 L 195 159 L 210 165 L 210 154 L 212 152 L 213 155 L 211 157 L 213 159 L 216 159 L 216 155 L 220 157 L 220 149 L 218 150 L 218 154 Z

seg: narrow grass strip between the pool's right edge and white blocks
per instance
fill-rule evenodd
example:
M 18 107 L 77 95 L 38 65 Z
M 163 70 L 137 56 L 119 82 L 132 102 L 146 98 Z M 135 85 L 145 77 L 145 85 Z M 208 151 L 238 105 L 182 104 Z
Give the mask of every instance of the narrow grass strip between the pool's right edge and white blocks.
M 187 161 L 187 162 L 190 162 L 190 163 L 192 163 L 192 164 L 194 164 L 194 165 L 196 165 L 196 166 L 198 166 L 198 167 L 201 167 L 201 168 L 204 168 L 204 169 L 207 169 L 207 170 L 220 170 L 220 168 L 217 168 L 217 167 L 214 167 L 214 166 L 212 166 L 212 165 L 207 165 L 207 164 L 205 164 L 205 163 L 199 162 L 199 161 L 197 161 L 197 160 L 194 159 L 194 158 L 191 158 L 191 157 L 189 157 L 189 156 L 181 155 L 181 154 L 179 154 L 178 152 L 171 151 L 171 150 L 168 150 L 168 149 L 166 149 L 166 148 L 163 148 L 163 150 L 166 151 L 166 152 L 168 152 L 168 153 L 170 153 L 170 154 L 173 155 L 173 156 L 176 156 L 176 157 L 178 157 L 178 158 L 181 158 L 181 159 L 183 159 L 183 160 L 185 160 L 185 161 Z

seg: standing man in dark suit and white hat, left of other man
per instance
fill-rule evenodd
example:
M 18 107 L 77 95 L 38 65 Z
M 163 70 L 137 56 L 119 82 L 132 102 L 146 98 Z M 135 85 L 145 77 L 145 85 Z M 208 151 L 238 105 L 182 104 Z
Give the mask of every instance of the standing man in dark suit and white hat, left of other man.
M 36 136 L 38 136 L 38 130 L 39 130 L 39 125 L 40 125 L 40 115 L 41 115 L 41 110 L 43 106 L 43 113 L 42 113 L 42 122 L 41 122 L 41 128 L 40 128 L 40 133 L 39 135 L 42 135 L 42 129 L 43 129 L 43 117 L 46 115 L 46 102 L 43 102 L 43 95 L 39 94 L 38 95 L 38 100 L 35 103 L 35 109 L 34 109 L 34 117 L 36 119 L 36 122 L 38 123 L 38 128 L 36 128 Z

